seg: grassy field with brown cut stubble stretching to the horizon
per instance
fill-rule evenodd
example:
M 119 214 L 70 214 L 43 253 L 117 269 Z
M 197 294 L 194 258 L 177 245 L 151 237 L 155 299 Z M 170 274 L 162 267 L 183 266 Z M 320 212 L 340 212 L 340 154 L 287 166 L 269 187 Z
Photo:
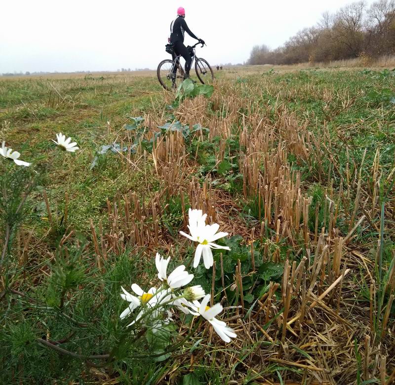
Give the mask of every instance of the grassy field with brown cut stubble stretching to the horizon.
M 40 175 L 1 268 L 4 383 L 395 376 L 394 71 L 257 66 L 216 75 L 211 98 L 173 109 L 175 95 L 153 72 L 0 79 L 0 139 L 33 163 L 30 176 L 7 166 L 1 180 L 17 201 L 32 170 Z M 174 120 L 181 124 L 164 126 Z M 78 142 L 76 154 L 55 147 L 59 131 Z M 100 153 L 112 143 L 125 151 Z M 120 286 L 154 282 L 157 250 L 177 263 L 191 258 L 178 235 L 190 206 L 229 232 L 231 251 L 214 252 L 214 279 L 200 267 L 194 274 L 228 308 L 237 339 L 224 345 L 200 326 L 157 359 L 153 341 L 137 346 L 125 334 Z M 175 324 L 180 333 L 194 325 L 190 316 Z M 116 359 L 100 367 L 40 339 Z

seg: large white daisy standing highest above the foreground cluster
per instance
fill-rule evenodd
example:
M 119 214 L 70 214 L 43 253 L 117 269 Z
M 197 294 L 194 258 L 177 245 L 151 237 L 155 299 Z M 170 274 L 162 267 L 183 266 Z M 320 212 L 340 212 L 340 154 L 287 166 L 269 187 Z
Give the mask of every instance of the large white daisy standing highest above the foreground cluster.
M 195 211 L 195 212 L 194 212 Z M 197 212 L 196 212 L 197 211 Z M 201 254 L 203 254 L 204 267 L 209 269 L 213 265 L 213 253 L 211 251 L 212 248 L 221 248 L 225 250 L 230 250 L 228 246 L 220 246 L 214 243 L 214 241 L 226 237 L 228 233 L 219 232 L 219 224 L 214 223 L 212 225 L 205 224 L 205 214 L 200 215 L 201 210 L 189 210 L 189 215 L 192 215 L 192 218 L 189 218 L 189 231 L 191 235 L 180 231 L 180 234 L 184 237 L 187 237 L 191 241 L 198 242 L 196 251 L 195 251 L 195 259 L 194 259 L 194 267 L 197 268 L 197 265 L 200 262 Z M 204 221 L 203 221 L 204 218 Z

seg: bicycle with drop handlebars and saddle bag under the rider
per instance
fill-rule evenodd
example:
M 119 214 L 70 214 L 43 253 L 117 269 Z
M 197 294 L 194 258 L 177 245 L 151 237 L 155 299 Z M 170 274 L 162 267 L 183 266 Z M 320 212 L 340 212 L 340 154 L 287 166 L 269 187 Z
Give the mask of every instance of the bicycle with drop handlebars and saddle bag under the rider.
M 197 78 L 202 84 L 210 84 L 214 80 L 214 71 L 208 64 L 207 60 L 198 58 L 196 56 L 196 46 L 199 44 L 197 42 L 191 47 L 187 47 L 190 51 L 192 57 L 191 68 L 195 62 L 195 71 Z M 203 47 L 203 44 L 201 44 Z M 171 52 L 171 45 L 166 45 L 166 52 Z M 185 79 L 185 72 L 180 63 L 181 55 L 175 57 L 174 60 L 165 59 L 162 60 L 157 69 L 157 75 L 159 83 L 165 90 L 171 91 L 178 87 L 178 84 Z

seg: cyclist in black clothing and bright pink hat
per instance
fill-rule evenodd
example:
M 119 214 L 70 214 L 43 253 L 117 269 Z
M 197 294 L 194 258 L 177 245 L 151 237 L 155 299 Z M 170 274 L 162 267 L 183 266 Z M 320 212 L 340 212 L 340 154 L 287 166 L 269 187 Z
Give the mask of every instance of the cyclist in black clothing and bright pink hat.
M 188 28 L 185 22 L 185 9 L 179 7 L 177 9 L 177 17 L 170 24 L 170 39 L 169 42 L 173 44 L 174 54 L 173 60 L 176 55 L 181 55 L 185 59 L 185 78 L 189 77 L 189 71 L 191 70 L 192 58 L 191 54 L 188 52 L 188 48 L 184 45 L 184 32 L 186 31 L 188 35 L 197 39 L 199 43 L 204 44 L 204 40 L 199 39 L 192 31 Z M 177 67 L 174 67 L 173 74 L 177 72 Z M 174 83 L 175 79 L 173 80 Z

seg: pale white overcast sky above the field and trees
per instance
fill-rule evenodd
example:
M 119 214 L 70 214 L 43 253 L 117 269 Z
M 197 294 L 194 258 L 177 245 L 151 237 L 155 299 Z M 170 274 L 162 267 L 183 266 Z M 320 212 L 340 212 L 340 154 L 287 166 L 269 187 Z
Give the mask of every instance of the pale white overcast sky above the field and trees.
M 212 65 L 242 63 L 254 44 L 283 44 L 347 0 L 3 0 L 0 73 L 155 69 L 178 6 Z M 373 1 L 367 1 L 371 3 Z M 196 40 L 187 36 L 186 44 Z

